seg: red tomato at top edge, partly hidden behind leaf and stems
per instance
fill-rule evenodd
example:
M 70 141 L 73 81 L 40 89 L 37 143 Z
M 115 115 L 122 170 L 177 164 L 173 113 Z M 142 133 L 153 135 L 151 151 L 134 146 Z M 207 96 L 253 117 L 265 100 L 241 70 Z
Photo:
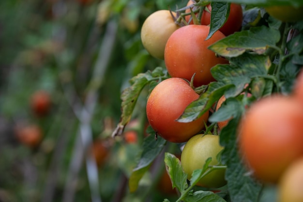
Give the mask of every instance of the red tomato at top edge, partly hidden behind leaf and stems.
M 187 6 L 193 4 L 192 0 L 189 0 Z M 186 13 L 190 12 L 189 9 L 185 11 Z M 212 6 L 208 4 L 201 16 L 201 25 L 209 25 L 211 23 L 211 12 Z M 185 17 L 185 20 L 188 22 L 190 19 L 190 15 Z M 236 31 L 240 31 L 242 27 L 243 20 L 243 11 L 242 6 L 240 4 L 231 3 L 229 16 L 225 24 L 219 29 L 224 35 L 228 36 Z M 193 20 L 190 21 L 190 24 L 193 24 Z

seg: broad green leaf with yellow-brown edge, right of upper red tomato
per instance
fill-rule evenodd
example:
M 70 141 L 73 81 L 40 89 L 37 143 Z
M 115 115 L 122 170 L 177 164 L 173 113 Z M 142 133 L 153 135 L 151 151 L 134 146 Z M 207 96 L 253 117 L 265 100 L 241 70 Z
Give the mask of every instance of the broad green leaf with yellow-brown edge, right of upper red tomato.
M 235 32 L 216 43 L 209 49 L 224 57 L 237 57 L 245 51 L 263 54 L 280 40 L 278 30 L 265 26 L 252 27 L 250 30 Z

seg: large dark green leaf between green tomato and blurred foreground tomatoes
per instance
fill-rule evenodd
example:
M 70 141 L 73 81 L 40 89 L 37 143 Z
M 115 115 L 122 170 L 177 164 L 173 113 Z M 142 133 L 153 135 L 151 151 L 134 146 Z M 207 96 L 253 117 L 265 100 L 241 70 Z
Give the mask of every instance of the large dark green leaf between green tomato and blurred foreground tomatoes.
M 232 202 L 257 202 L 262 185 L 243 166 L 238 154 L 237 128 L 240 116 L 230 120 L 220 134 L 220 144 L 224 146 L 222 163 L 227 165 L 226 179 Z

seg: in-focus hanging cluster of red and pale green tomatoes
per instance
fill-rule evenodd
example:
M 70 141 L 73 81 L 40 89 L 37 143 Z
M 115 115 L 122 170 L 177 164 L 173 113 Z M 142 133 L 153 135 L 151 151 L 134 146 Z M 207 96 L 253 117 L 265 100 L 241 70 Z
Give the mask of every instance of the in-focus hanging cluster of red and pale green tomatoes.
M 141 29 L 143 46 L 155 58 L 164 59 L 171 77 L 159 82 L 150 93 L 146 106 L 147 118 L 156 134 L 165 140 L 186 142 L 181 164 L 188 177 L 194 170 L 203 168 L 209 157 L 212 157 L 209 165 L 217 165 L 216 155 L 223 147 L 219 144 L 219 136 L 199 134 L 205 129 L 209 111 L 192 122 L 182 123 L 177 119 L 191 102 L 198 99 L 195 87 L 214 81 L 211 68 L 216 64 L 228 63 L 208 47 L 240 31 L 242 26 L 242 7 L 232 3 L 225 25 L 206 40 L 210 32 L 212 7 L 210 4 L 196 7 L 194 3 L 189 0 L 183 14 L 169 10 L 156 11 L 147 17 Z M 193 18 L 197 18 L 202 8 L 200 23 L 195 24 Z M 176 23 L 180 17 L 182 22 L 186 21 L 185 24 Z M 224 186 L 224 175 L 225 169 L 212 171 L 198 185 L 210 188 Z

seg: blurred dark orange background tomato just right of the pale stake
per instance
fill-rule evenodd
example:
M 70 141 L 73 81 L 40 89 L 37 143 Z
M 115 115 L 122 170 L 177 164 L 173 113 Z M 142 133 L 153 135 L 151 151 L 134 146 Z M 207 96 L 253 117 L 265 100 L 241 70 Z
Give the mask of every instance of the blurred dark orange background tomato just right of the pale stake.
M 91 145 L 91 155 L 94 157 L 97 166 L 102 166 L 109 155 L 106 143 L 103 140 L 94 140 Z

